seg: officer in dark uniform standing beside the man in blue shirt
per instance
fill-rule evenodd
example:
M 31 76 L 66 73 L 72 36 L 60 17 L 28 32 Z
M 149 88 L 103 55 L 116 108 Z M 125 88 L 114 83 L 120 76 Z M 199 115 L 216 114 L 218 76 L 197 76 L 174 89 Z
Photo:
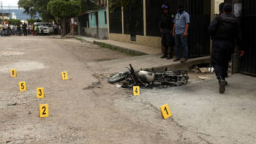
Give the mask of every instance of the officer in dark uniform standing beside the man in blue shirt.
M 161 20 L 159 22 L 159 28 L 162 33 L 162 45 L 164 46 L 164 55 L 161 58 L 167 58 L 170 60 L 173 58 L 173 45 L 174 40 L 172 38 L 172 28 L 173 28 L 173 17 L 169 12 L 168 4 L 163 4 L 162 9 L 164 10 Z M 169 51 L 169 56 L 168 56 Z

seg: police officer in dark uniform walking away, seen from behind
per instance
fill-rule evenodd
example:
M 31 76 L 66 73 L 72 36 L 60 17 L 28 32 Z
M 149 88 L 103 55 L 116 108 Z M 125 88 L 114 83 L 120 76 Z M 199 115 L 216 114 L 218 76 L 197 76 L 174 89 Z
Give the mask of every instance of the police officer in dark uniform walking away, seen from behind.
M 241 28 L 238 20 L 231 15 L 232 5 L 224 4 L 223 14 L 217 15 L 209 26 L 212 37 L 212 65 L 219 81 L 220 93 L 225 92 L 227 81 L 228 61 L 234 52 L 234 42 L 241 46 Z M 244 51 L 239 51 L 243 56 Z

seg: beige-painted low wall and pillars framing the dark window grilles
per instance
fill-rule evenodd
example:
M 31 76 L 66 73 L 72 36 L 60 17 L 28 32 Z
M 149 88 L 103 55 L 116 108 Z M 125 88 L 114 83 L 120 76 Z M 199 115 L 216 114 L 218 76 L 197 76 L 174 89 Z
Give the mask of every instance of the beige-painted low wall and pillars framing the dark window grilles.
M 147 45 L 149 47 L 156 47 L 157 49 L 161 49 L 161 37 L 160 36 L 146 36 L 147 34 L 147 24 L 146 24 L 146 17 L 145 17 L 145 12 L 146 12 L 146 6 L 145 6 L 146 0 L 143 0 L 143 12 L 144 12 L 144 36 L 136 35 L 136 42 L 131 41 L 131 35 L 125 35 L 124 34 L 124 24 L 122 24 L 122 31 L 123 34 L 117 34 L 117 33 L 109 33 L 109 40 L 116 40 L 119 42 L 127 42 L 131 44 L 140 44 L 140 45 Z M 214 14 L 219 13 L 219 4 L 223 3 L 224 0 L 212 0 L 211 1 L 211 19 L 214 18 Z M 108 11 L 109 12 L 109 11 Z M 108 14 L 109 16 L 109 14 Z M 123 20 L 123 15 L 122 15 L 122 20 Z M 122 22 L 123 23 L 123 22 Z

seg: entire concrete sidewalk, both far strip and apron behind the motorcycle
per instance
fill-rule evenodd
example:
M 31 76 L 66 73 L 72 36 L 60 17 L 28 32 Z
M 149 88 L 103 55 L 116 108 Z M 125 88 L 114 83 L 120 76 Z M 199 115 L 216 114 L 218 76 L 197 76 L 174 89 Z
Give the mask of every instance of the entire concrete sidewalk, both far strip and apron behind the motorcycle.
M 154 47 L 129 44 L 125 42 L 116 42 L 114 40 L 97 40 L 96 38 L 89 38 L 86 36 L 76 36 L 76 38 L 80 40 L 83 39 L 86 42 L 97 44 L 103 47 L 106 47 L 106 45 L 111 45 L 111 47 L 117 47 L 118 50 L 125 49 L 125 51 L 136 53 L 131 58 L 88 63 L 90 67 L 94 68 L 97 68 L 97 66 L 100 65 L 101 68 L 105 69 L 104 72 L 108 74 L 115 74 L 116 72 L 127 70 L 126 67 L 129 67 L 130 63 L 135 70 L 140 70 L 141 68 L 143 70 L 154 68 L 154 70 L 157 71 L 164 71 L 165 68 L 168 68 L 168 70 L 188 70 L 189 67 L 193 65 L 210 63 L 210 56 L 193 58 L 186 61 L 186 63 L 180 63 L 180 61 L 173 62 L 173 60 L 161 59 L 161 50 Z

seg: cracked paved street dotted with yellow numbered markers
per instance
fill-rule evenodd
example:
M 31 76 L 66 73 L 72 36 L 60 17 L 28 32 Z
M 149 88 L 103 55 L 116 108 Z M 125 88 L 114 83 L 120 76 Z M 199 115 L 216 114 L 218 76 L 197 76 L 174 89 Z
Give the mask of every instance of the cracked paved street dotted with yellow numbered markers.
M 187 86 L 141 90 L 134 97 L 107 83 L 113 62 L 132 56 L 56 36 L 0 42 L 0 143 L 256 143 L 255 77 L 231 76 L 220 95 L 213 74 L 207 80 L 191 74 Z M 127 61 L 118 67 L 125 70 Z M 12 68 L 17 77 L 10 77 Z M 27 92 L 19 92 L 20 81 Z M 36 98 L 38 87 L 44 99 Z M 164 120 L 159 108 L 166 103 L 173 117 Z M 49 104 L 49 117 L 39 118 L 39 104 Z

